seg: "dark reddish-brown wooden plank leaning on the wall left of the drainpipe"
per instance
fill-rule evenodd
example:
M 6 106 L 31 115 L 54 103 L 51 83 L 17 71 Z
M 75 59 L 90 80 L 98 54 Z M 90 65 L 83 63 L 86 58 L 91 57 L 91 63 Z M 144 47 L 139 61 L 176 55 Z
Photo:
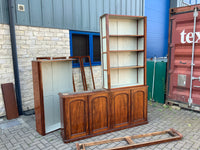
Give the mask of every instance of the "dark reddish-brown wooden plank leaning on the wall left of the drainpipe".
M 15 119 L 19 116 L 13 83 L 1 84 L 3 100 L 7 119 Z

